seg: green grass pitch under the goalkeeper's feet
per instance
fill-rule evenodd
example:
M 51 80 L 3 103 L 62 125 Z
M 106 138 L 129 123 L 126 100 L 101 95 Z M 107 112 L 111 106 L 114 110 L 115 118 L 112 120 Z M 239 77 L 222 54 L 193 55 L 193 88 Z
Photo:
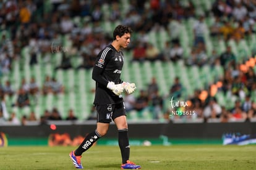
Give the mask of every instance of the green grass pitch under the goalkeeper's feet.
M 0 169 L 75 169 L 75 147 L 3 147 Z M 171 145 L 131 147 L 130 160 L 142 169 L 255 169 L 256 145 Z M 83 153 L 85 169 L 120 169 L 119 147 L 100 146 Z

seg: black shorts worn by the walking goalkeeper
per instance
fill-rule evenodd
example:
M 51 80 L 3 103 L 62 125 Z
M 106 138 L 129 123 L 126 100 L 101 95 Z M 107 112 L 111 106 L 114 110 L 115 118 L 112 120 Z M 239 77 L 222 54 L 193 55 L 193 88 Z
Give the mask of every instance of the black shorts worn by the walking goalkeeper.
M 117 103 L 114 105 L 96 105 L 97 122 L 110 123 L 119 116 L 126 116 L 126 108 L 124 103 Z

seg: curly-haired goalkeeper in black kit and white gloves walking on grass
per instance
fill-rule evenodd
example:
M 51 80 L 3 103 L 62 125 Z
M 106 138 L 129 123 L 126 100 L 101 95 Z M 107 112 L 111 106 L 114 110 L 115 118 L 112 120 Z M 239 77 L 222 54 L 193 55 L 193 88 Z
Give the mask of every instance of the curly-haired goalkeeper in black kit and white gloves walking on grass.
M 83 168 L 80 160 L 82 153 L 92 147 L 96 140 L 105 136 L 109 123 L 113 120 L 118 130 L 118 142 L 122 156 L 121 169 L 140 169 L 139 165 L 129 161 L 128 125 L 122 99 L 123 91 L 131 94 L 136 87 L 134 83 L 120 79 L 124 64 L 122 49 L 128 46 L 131 33 L 132 30 L 128 26 L 117 26 L 113 31 L 113 42 L 100 51 L 96 57 L 92 78 L 96 81 L 93 104 L 97 111 L 97 126 L 76 150 L 70 152 L 69 155 L 75 168 Z

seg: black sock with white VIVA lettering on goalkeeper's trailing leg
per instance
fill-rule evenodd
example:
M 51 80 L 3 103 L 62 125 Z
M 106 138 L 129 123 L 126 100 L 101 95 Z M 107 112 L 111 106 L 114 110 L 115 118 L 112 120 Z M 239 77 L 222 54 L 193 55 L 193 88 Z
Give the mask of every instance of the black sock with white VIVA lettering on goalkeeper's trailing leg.
M 85 139 L 83 140 L 82 144 L 75 150 L 75 156 L 82 155 L 83 152 L 88 150 L 88 148 L 92 147 L 96 140 L 100 139 L 100 134 L 97 130 L 93 131 L 92 133 L 88 134 Z

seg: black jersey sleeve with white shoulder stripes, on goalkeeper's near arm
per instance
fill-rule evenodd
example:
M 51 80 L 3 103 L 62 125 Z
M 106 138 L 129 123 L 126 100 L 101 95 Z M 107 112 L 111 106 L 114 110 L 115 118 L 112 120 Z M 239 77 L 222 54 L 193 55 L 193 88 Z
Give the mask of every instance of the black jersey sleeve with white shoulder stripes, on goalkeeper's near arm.
M 108 80 L 103 76 L 103 71 L 105 70 L 106 64 L 109 62 L 111 58 L 112 50 L 110 48 L 106 48 L 103 50 L 100 55 L 97 56 L 95 65 L 93 67 L 92 78 L 100 84 L 104 86 L 108 85 Z

